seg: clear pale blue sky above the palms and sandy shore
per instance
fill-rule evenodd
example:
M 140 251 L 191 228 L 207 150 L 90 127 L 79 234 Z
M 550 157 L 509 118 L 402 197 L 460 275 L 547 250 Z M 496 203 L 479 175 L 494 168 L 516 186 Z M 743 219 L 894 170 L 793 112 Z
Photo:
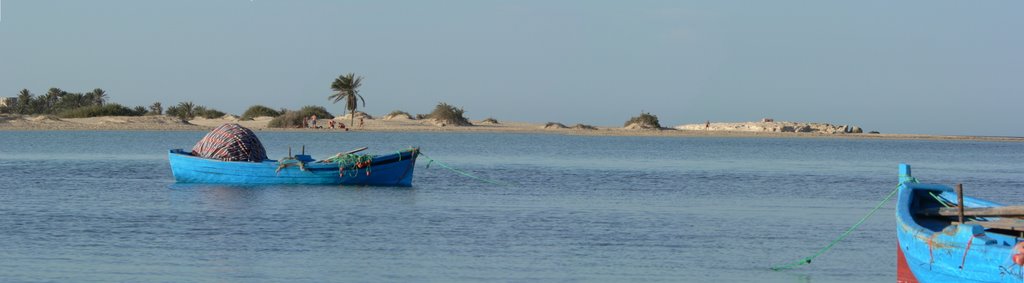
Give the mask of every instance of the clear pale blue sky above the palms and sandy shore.
M 1024 135 L 1022 1 L 0 2 L 0 95 Z

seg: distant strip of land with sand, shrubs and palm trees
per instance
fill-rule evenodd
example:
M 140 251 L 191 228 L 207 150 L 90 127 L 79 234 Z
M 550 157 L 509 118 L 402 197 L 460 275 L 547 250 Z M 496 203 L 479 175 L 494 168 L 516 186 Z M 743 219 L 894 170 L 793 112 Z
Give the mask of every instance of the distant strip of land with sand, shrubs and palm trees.
M 595 126 L 560 122 L 527 123 L 494 117 L 470 120 L 462 108 L 439 103 L 431 113 L 413 115 L 395 110 L 374 117 L 357 111 L 366 105 L 359 93 L 362 77 L 349 73 L 330 86 L 333 103 L 344 102 L 346 114 L 334 116 L 323 106 L 298 110 L 249 107 L 241 116 L 181 102 L 164 108 L 161 103 L 129 108 L 109 103 L 100 88 L 69 92 L 50 88 L 43 95 L 23 89 L 16 97 L 0 97 L 0 130 L 197 130 L 205 131 L 224 123 L 238 123 L 254 130 L 275 131 L 456 131 L 534 132 L 579 135 L 635 136 L 755 136 L 755 137 L 847 137 L 900 139 L 974 139 L 1024 141 L 1024 137 L 893 134 L 865 131 L 856 125 L 813 122 L 776 122 L 766 118 L 756 122 L 711 122 L 665 127 L 657 116 L 641 112 L 623 126 Z

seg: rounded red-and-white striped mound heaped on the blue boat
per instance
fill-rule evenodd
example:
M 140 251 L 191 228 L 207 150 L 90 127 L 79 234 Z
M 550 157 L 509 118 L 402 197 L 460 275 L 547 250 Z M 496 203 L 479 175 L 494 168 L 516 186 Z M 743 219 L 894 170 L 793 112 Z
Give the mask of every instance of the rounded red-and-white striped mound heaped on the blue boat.
M 266 160 L 263 144 L 256 133 L 239 124 L 228 123 L 214 128 L 193 147 L 194 156 L 223 161 L 260 162 Z

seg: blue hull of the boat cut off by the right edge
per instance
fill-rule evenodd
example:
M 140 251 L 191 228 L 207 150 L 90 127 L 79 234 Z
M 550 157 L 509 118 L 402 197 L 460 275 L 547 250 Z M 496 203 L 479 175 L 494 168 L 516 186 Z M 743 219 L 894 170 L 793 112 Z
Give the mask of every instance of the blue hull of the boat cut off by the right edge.
M 896 205 L 897 281 L 1022 282 L 1021 266 L 1012 257 L 1020 238 L 915 216 L 913 211 L 933 199 L 955 204 L 956 194 L 946 186 L 910 181 L 909 166 L 905 169 Z M 1001 205 L 964 197 L 964 206 Z

